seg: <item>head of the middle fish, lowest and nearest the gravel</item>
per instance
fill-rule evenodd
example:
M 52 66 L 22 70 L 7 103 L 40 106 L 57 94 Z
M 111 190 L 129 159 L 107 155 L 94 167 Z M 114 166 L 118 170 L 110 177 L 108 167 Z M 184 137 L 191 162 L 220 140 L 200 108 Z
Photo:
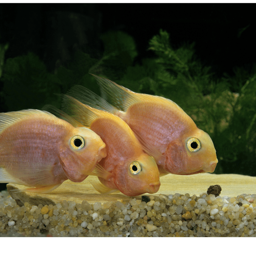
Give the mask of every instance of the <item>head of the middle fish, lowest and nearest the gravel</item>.
M 116 177 L 116 187 L 127 196 L 153 194 L 160 188 L 156 161 L 145 153 L 135 159 L 129 159 L 125 164 L 124 172 L 119 172 Z

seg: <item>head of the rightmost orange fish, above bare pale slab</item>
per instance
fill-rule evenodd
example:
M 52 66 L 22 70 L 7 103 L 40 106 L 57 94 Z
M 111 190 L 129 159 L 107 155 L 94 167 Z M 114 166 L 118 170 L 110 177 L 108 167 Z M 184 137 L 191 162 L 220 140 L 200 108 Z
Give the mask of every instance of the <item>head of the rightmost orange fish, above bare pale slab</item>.
M 165 169 L 180 175 L 214 172 L 218 163 L 210 136 L 198 128 L 172 141 L 165 156 Z

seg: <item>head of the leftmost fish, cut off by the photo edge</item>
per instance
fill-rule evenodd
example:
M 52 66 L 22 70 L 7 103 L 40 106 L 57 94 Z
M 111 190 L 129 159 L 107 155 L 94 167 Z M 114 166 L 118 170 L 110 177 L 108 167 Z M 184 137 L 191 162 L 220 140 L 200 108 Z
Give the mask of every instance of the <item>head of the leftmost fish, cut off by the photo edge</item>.
M 86 127 L 76 127 L 61 144 L 59 159 L 68 179 L 81 182 L 106 156 L 106 145 L 99 135 Z

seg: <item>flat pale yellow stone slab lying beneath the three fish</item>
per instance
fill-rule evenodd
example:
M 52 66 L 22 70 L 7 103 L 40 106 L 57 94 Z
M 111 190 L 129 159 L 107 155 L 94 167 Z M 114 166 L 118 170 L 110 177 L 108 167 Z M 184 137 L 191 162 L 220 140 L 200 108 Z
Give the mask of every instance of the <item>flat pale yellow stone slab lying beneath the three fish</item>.
M 36 194 L 31 192 L 16 192 L 13 189 L 27 188 L 22 185 L 7 184 L 7 190 L 17 204 L 57 204 L 66 201 L 74 201 L 76 204 L 81 204 L 86 200 L 90 204 L 95 202 L 107 203 L 122 200 L 128 202 L 131 198 L 141 198 L 141 196 L 125 196 L 122 193 L 101 195 L 91 185 L 89 180 L 98 181 L 97 177 L 89 176 L 81 183 L 71 182 L 66 180 L 60 187 L 56 188 L 47 194 Z M 256 194 L 256 177 L 238 175 L 238 174 L 196 174 L 196 175 L 174 175 L 168 174 L 160 178 L 161 187 L 154 195 L 174 195 L 175 193 L 190 196 L 199 196 L 201 193 L 206 193 L 211 185 L 220 185 L 222 188 L 220 196 L 236 197 L 242 194 Z M 144 194 L 149 196 L 149 194 Z

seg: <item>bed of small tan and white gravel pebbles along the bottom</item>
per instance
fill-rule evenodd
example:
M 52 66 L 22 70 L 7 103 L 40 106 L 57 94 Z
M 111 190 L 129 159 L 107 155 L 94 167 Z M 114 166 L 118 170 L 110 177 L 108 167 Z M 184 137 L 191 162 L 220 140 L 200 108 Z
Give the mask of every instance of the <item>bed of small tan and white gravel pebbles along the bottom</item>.
M 0 236 L 256 236 L 256 195 L 162 195 L 129 202 L 16 204 L 0 193 Z

